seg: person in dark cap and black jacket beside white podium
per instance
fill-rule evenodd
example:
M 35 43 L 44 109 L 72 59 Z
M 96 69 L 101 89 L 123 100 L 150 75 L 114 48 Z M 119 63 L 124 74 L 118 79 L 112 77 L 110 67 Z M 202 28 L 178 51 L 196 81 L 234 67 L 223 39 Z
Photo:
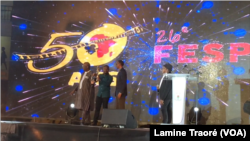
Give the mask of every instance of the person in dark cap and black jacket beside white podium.
M 171 123 L 172 120 L 172 80 L 168 79 L 168 73 L 172 71 L 172 65 L 167 63 L 162 68 L 163 77 L 157 90 L 160 95 L 163 123 Z

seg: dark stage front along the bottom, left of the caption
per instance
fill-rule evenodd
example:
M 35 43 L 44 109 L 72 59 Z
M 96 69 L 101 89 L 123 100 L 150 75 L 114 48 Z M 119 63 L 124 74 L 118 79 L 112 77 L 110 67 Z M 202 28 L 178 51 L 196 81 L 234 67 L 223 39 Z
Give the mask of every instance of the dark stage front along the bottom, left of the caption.
M 149 128 L 107 129 L 13 121 L 0 124 L 1 141 L 149 141 Z

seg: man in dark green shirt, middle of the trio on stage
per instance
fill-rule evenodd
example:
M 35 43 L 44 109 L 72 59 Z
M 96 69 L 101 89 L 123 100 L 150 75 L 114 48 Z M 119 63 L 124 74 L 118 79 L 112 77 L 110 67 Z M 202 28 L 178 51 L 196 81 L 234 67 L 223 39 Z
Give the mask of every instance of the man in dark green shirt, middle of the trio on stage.
M 104 109 L 108 108 L 108 102 L 110 98 L 110 84 L 113 82 L 113 77 L 109 74 L 108 65 L 103 67 L 103 74 L 100 74 L 97 77 L 97 81 L 99 81 L 99 88 L 96 96 L 96 108 L 93 125 L 97 125 L 101 106 L 103 105 Z

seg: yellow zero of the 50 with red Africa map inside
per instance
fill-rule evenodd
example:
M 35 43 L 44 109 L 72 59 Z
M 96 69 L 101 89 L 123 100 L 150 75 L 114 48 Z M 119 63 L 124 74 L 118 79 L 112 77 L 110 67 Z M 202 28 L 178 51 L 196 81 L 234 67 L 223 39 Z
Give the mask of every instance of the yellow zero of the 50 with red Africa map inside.
M 95 51 L 93 54 L 87 52 L 85 48 L 77 50 L 77 57 L 81 63 L 90 62 L 93 66 L 106 64 L 115 59 L 125 48 L 127 36 L 121 35 L 125 30 L 114 24 L 104 24 L 103 27 L 95 29 L 85 35 L 81 43 L 91 43 Z

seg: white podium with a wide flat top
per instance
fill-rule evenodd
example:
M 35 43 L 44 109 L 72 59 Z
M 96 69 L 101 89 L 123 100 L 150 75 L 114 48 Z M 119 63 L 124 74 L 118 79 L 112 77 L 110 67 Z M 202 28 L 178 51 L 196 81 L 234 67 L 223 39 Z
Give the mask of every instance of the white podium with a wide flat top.
M 168 74 L 172 79 L 172 121 L 173 124 L 184 125 L 186 107 L 187 81 L 197 81 L 197 77 L 190 74 Z

